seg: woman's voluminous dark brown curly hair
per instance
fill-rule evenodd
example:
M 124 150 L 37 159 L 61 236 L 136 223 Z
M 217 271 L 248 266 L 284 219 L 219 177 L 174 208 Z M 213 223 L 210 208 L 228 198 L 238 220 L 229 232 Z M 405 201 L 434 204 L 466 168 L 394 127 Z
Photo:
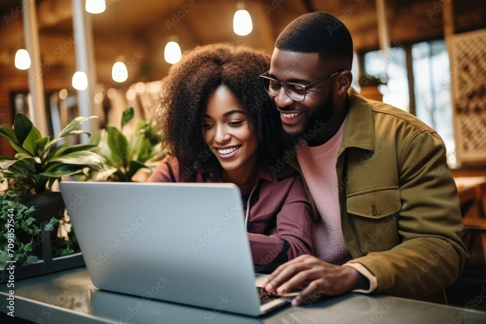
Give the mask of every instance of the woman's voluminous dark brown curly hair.
M 278 111 L 268 100 L 260 74 L 270 69 L 270 55 L 226 43 L 186 51 L 162 80 L 154 117 L 164 131 L 164 145 L 181 166 L 214 167 L 217 158 L 203 138 L 202 116 L 209 95 L 220 85 L 233 92 L 260 140 L 260 161 L 273 165 L 281 156 Z

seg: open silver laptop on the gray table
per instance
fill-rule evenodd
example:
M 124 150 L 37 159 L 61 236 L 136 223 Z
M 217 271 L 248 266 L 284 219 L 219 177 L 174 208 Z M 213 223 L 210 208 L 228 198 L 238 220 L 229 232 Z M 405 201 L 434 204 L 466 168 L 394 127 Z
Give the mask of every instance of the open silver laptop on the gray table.
M 258 292 L 264 275 L 254 273 L 234 184 L 61 182 L 60 188 L 99 289 L 252 316 L 292 298 Z

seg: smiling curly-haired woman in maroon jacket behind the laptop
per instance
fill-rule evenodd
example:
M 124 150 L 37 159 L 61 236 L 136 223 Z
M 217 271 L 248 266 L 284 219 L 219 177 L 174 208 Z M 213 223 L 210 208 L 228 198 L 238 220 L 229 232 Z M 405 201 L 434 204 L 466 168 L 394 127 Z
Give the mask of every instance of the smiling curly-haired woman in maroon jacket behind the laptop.
M 243 46 L 186 52 L 163 80 L 154 112 L 171 155 L 148 179 L 238 185 L 260 272 L 312 254 L 312 209 L 302 179 L 287 165 L 273 167 L 282 157 L 273 131 L 280 121 L 258 78 L 269 66 L 269 55 Z

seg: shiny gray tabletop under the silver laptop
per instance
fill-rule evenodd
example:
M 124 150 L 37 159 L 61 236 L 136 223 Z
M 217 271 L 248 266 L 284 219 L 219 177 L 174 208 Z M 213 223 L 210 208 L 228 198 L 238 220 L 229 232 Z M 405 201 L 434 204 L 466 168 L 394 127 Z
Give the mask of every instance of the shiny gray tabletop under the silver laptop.
M 8 312 L 7 283 L 0 311 Z M 86 267 L 15 282 L 15 316 L 34 323 L 486 323 L 486 312 L 382 295 L 348 293 L 254 318 L 98 290 Z M 195 292 L 197 293 L 197 292 Z

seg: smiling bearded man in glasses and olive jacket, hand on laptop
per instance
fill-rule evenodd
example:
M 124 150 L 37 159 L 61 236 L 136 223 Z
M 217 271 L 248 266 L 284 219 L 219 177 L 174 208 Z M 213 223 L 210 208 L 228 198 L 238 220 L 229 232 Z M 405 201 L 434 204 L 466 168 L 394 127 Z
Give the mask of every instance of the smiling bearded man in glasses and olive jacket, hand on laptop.
M 347 291 L 445 303 L 469 253 L 443 141 L 414 116 L 360 96 L 352 56 L 346 26 L 314 12 L 278 36 L 261 76 L 317 215 L 315 257 L 281 265 L 265 289 L 308 285 L 293 305 Z

